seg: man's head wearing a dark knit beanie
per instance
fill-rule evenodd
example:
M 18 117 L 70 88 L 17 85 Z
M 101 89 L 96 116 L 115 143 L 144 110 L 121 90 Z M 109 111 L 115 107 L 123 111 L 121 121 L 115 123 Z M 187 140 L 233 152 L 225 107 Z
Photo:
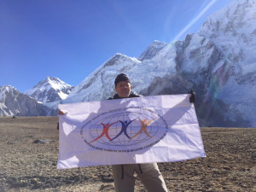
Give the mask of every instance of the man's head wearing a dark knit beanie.
M 131 80 L 124 73 L 120 73 L 114 80 L 115 90 L 119 97 L 125 98 L 131 93 Z

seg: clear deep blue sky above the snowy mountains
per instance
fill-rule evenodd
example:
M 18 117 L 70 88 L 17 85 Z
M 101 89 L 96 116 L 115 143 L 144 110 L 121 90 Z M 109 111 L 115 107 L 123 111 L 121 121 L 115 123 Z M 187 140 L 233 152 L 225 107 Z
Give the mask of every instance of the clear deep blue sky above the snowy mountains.
M 232 0 L 0 0 L 0 85 L 20 92 L 47 76 L 78 85 L 116 53 L 199 30 Z

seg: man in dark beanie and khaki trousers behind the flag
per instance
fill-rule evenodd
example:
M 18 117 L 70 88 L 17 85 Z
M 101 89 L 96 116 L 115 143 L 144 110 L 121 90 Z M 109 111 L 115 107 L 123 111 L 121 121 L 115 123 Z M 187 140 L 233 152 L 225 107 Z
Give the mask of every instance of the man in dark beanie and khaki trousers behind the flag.
M 110 97 L 109 99 L 139 97 L 136 93 L 131 92 L 131 80 L 124 73 L 120 73 L 116 77 L 114 84 L 117 93 L 113 98 Z M 134 191 L 134 172 L 137 172 L 137 176 L 143 182 L 148 192 L 168 191 L 156 163 L 113 165 L 112 169 L 114 187 L 117 192 Z

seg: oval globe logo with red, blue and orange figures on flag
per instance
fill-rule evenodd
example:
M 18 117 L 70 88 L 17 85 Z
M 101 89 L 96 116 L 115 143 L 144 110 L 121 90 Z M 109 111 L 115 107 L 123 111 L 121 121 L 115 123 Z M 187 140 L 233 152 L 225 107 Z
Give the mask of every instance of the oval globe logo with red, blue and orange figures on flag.
M 150 108 L 119 108 L 99 113 L 80 131 L 84 143 L 113 152 L 149 148 L 166 137 L 166 120 Z

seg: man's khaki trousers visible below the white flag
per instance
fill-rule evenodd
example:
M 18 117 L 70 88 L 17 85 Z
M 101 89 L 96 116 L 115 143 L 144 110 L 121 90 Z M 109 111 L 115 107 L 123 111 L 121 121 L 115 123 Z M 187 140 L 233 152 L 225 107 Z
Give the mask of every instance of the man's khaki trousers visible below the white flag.
M 156 163 L 114 165 L 113 181 L 116 192 L 133 192 L 135 186 L 134 172 L 148 192 L 166 192 L 166 183 Z

